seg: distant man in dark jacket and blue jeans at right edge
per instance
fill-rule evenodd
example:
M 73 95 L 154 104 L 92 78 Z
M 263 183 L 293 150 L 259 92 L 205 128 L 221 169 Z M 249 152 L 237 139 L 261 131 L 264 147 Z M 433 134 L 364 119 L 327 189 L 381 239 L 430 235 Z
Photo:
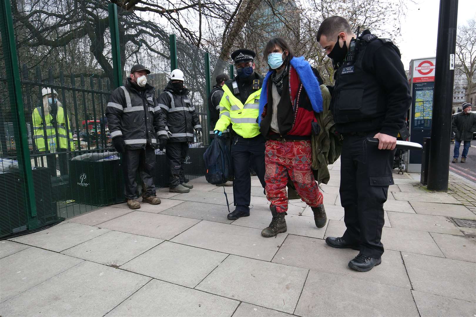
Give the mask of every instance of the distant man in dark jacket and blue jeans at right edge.
M 461 153 L 461 163 L 466 163 L 471 140 L 476 131 L 476 113 L 471 112 L 471 104 L 463 103 L 463 111 L 453 116 L 451 123 L 451 133 L 455 134 L 455 149 L 453 152 L 453 163 L 458 163 L 459 147 L 464 142 L 463 153 Z

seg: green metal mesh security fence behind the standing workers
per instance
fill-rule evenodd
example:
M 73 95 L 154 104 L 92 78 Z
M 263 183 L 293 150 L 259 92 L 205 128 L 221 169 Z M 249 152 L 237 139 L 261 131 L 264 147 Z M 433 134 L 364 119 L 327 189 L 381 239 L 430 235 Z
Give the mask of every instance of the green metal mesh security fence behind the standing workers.
M 156 94 L 171 69 L 184 71 L 204 135 L 186 173 L 203 174 L 210 83 L 227 62 L 107 1 L 0 4 L 0 238 L 124 201 L 105 107 L 136 63 Z M 156 161 L 155 183 L 166 186 L 163 151 Z

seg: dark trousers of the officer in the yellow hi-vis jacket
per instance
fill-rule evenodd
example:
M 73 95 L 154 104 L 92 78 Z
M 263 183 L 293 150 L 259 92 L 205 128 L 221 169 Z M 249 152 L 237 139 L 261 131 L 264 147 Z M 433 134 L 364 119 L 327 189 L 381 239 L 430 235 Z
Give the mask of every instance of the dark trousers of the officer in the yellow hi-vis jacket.
M 253 138 L 239 135 L 233 137 L 231 143 L 231 159 L 235 179 L 233 181 L 233 197 L 237 210 L 248 211 L 251 201 L 252 167 L 258 175 L 259 182 L 265 188 L 265 138 L 259 134 Z

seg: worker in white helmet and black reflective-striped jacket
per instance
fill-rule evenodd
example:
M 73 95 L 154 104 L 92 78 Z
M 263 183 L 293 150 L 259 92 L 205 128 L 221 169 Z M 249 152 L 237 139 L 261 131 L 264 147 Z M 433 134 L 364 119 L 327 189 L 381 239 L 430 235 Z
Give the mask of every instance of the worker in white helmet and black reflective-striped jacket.
M 170 73 L 169 84 L 159 96 L 165 129 L 169 134 L 165 154 L 170 168 L 169 192 L 190 192 L 192 184 L 188 184 L 183 171 L 187 157 L 188 143 L 193 142 L 193 130 L 202 136 L 202 126 L 195 112 L 195 107 L 188 97 L 190 92 L 184 87 L 184 76 L 180 69 Z

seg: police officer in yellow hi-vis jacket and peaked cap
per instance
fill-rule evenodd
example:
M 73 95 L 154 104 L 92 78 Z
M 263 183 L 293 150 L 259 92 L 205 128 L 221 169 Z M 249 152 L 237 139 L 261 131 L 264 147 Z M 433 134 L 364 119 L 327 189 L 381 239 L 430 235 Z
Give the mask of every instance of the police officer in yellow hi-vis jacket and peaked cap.
M 255 72 L 255 57 L 256 53 L 249 49 L 238 49 L 231 54 L 238 75 L 223 85 L 220 118 L 213 129 L 215 134 L 221 135 L 231 123 L 236 134 L 231 140 L 236 209 L 228 214 L 230 220 L 249 216 L 250 166 L 257 173 L 263 188 L 265 187 L 265 138 L 259 133 L 257 122 L 263 76 Z

